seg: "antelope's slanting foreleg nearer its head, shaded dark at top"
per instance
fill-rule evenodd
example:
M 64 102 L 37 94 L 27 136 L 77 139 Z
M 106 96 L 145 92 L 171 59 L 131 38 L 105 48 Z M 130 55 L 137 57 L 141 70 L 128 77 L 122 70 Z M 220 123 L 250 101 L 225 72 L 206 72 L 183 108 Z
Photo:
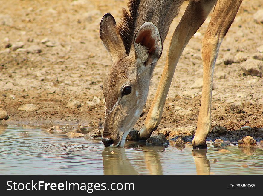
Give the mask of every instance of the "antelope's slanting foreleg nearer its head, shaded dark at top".
M 172 82 L 175 68 L 185 46 L 198 28 L 207 18 L 215 0 L 194 2 L 190 1 L 186 11 L 175 29 L 167 51 L 166 63 L 158 85 L 152 105 L 149 109 L 145 123 L 138 135 L 140 139 L 147 139 L 160 124 L 163 107 Z

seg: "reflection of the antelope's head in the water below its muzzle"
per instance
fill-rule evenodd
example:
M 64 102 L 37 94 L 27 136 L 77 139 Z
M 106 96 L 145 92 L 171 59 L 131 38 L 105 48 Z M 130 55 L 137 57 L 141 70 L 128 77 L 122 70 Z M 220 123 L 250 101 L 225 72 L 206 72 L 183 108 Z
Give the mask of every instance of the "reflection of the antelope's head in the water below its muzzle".
M 104 175 L 138 174 L 127 159 L 124 148 L 105 148 L 102 152 L 102 158 Z

